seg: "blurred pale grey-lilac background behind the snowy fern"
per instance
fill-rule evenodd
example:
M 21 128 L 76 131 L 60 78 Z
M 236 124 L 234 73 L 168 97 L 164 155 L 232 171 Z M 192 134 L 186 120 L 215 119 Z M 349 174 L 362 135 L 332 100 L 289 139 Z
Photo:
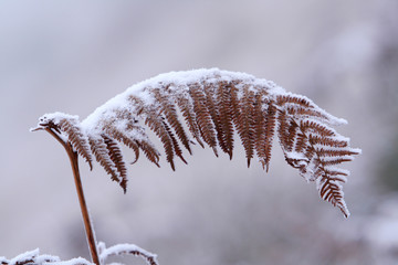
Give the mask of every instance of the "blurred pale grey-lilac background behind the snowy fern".
M 161 264 L 398 264 L 398 1 L 0 1 L 0 256 L 90 258 L 72 172 L 44 113 L 81 119 L 128 86 L 200 67 L 272 80 L 337 117 L 352 216 L 273 150 L 271 169 L 195 149 L 172 172 L 140 159 L 127 194 L 81 170 L 97 240 Z M 126 153 L 129 157 L 128 153 Z M 144 264 L 130 259 L 133 264 Z

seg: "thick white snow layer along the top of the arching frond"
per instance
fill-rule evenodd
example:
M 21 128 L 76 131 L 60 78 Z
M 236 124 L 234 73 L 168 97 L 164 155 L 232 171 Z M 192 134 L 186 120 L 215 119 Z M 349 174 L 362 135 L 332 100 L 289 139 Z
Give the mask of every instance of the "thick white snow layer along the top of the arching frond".
M 129 100 L 130 96 L 137 97 L 144 103 L 144 105 L 153 105 L 155 103 L 155 98 L 150 94 L 150 89 L 155 87 L 170 85 L 169 88 L 170 92 L 172 91 L 172 95 L 181 95 L 187 93 L 190 84 L 201 83 L 203 81 L 206 81 L 207 83 L 220 81 L 230 82 L 232 80 L 238 80 L 242 83 L 249 84 L 250 89 L 259 89 L 259 87 L 264 87 L 268 89 L 270 97 L 275 98 L 279 95 L 284 95 L 303 98 L 304 100 L 310 103 L 312 108 L 314 108 L 327 118 L 327 120 L 323 120 L 323 123 L 320 123 L 320 120 L 317 120 L 316 118 L 312 118 L 311 120 L 315 123 L 324 124 L 326 121 L 329 125 L 342 125 L 347 123 L 345 119 L 334 117 L 324 109 L 320 108 L 310 98 L 293 93 L 287 93 L 284 88 L 275 85 L 273 82 L 255 78 L 254 76 L 245 73 L 221 71 L 219 68 L 200 68 L 192 71 L 165 73 L 137 83 L 128 87 L 125 92 L 111 98 L 104 105 L 96 108 L 95 112 L 88 115 L 81 125 L 88 135 L 98 134 L 98 130 L 101 130 L 101 121 L 113 119 L 117 112 L 126 110 L 129 114 L 136 113 L 136 109 L 134 109 L 134 105 Z M 287 105 L 289 104 L 286 104 L 286 106 Z M 57 115 L 60 116 L 60 114 Z M 53 118 L 54 116 L 48 115 L 48 117 Z M 57 116 L 55 115 L 55 117 Z M 138 117 L 137 120 L 139 120 Z M 121 124 L 121 126 L 123 125 Z

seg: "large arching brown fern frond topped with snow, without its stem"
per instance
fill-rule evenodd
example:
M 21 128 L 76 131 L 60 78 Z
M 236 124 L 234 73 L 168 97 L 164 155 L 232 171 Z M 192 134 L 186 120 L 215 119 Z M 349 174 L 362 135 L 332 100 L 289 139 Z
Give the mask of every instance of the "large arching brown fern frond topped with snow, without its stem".
M 277 135 L 286 162 L 315 181 L 321 198 L 348 216 L 342 190 L 348 171 L 337 166 L 360 150 L 350 148 L 349 139 L 332 128 L 342 124 L 346 120 L 272 82 L 212 68 L 159 75 L 129 87 L 82 123 L 55 113 L 41 117 L 39 128 L 64 136 L 90 165 L 94 156 L 124 190 L 127 171 L 118 142 L 133 149 L 135 160 L 144 151 L 159 166 L 148 128 L 160 139 L 172 169 L 176 157 L 186 162 L 182 149 L 191 153 L 193 142 L 209 146 L 216 156 L 219 148 L 232 158 L 237 132 L 248 167 L 256 157 L 268 170 Z

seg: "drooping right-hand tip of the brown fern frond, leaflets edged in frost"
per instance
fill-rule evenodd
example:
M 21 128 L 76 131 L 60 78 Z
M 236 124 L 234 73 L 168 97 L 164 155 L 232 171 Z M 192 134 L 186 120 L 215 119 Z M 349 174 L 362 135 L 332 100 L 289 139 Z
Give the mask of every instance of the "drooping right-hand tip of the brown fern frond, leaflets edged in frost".
M 349 148 L 348 139 L 338 135 L 327 125 L 331 124 L 331 115 L 320 115 L 322 110 L 306 112 L 303 115 L 302 112 L 292 112 L 284 106 L 290 103 L 291 105 L 297 104 L 296 109 L 301 109 L 301 106 L 314 108 L 310 100 L 287 96 L 280 97 L 279 102 L 281 104 L 279 106 L 280 117 L 282 117 L 279 135 L 287 163 L 297 168 L 307 180 L 316 180 L 321 198 L 338 206 L 345 216 L 348 216 L 349 212 L 339 184 L 339 182 L 345 182 L 347 173 L 334 166 L 350 161 L 353 155 L 358 155 L 359 151 Z M 290 129 L 287 128 L 287 116 L 294 124 L 294 130 L 292 125 Z M 296 135 L 293 137 L 294 141 L 292 135 Z

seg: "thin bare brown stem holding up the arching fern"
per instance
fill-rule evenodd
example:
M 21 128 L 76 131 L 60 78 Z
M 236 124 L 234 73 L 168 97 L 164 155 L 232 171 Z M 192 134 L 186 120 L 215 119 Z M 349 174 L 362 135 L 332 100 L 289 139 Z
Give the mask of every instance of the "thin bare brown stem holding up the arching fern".
M 96 247 L 94 229 L 93 229 L 93 225 L 92 225 L 92 222 L 90 219 L 87 204 L 86 204 L 86 201 L 84 198 L 82 180 L 81 180 L 80 171 L 78 171 L 78 155 L 76 151 L 73 150 L 70 142 L 65 142 L 64 140 L 62 140 L 62 138 L 56 132 L 54 132 L 52 129 L 45 128 L 45 130 L 48 132 L 50 132 L 50 135 L 52 135 L 65 148 L 66 153 L 70 158 L 73 177 L 74 177 L 74 181 L 75 181 L 75 186 L 76 186 L 76 192 L 77 192 L 77 197 L 78 197 L 78 203 L 81 206 L 84 227 L 85 227 L 85 232 L 86 232 L 86 236 L 87 236 L 87 243 L 88 243 L 88 247 L 90 247 L 90 252 L 91 252 L 91 256 L 92 256 L 92 262 L 95 263 L 96 265 L 100 265 L 100 257 L 98 257 L 97 247 Z

